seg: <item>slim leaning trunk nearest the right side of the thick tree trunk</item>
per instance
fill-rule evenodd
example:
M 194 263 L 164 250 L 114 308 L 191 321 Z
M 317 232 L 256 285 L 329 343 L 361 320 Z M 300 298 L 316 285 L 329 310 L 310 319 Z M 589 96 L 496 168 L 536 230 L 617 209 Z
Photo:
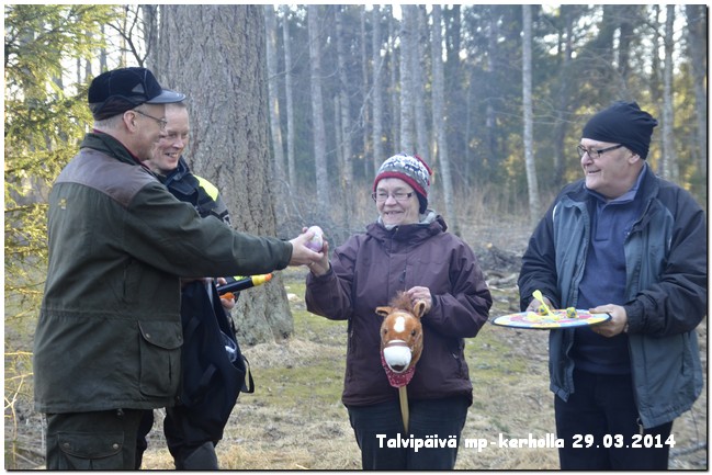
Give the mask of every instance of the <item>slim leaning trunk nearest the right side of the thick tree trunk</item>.
M 280 125 L 280 97 L 278 84 L 278 67 L 276 67 L 276 15 L 274 14 L 274 7 L 271 4 L 264 5 L 264 31 L 265 31 L 265 53 L 267 53 L 267 76 L 268 76 L 268 94 L 269 94 L 269 111 L 270 111 L 270 131 L 272 132 L 272 155 L 274 158 L 274 179 L 276 183 L 285 183 L 286 176 L 284 173 L 284 149 L 282 146 L 282 127 Z M 284 190 L 279 186 L 278 190 Z M 281 192 L 280 202 L 285 203 L 287 193 Z

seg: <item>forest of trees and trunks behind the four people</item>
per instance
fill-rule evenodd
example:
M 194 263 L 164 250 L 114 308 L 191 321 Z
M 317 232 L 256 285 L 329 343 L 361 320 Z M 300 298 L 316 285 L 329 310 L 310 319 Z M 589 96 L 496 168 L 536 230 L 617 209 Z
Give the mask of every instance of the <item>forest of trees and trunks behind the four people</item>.
M 319 224 L 334 248 L 373 220 L 375 170 L 398 151 L 432 166 L 432 207 L 473 247 L 483 223 L 531 230 L 617 100 L 658 118 L 647 161 L 707 210 L 704 4 L 8 4 L 4 25 L 5 453 L 21 457 L 46 197 L 101 71 L 146 66 L 189 97 L 187 158 L 244 231 Z M 240 297 L 244 344 L 294 333 L 275 282 Z

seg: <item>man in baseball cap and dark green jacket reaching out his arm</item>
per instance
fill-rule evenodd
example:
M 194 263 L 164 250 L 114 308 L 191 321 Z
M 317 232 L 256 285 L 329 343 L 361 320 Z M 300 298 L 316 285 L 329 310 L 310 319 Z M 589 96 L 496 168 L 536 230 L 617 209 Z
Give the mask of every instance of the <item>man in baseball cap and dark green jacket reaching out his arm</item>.
M 94 131 L 49 195 L 49 268 L 34 341 L 35 408 L 49 470 L 132 470 L 146 409 L 174 404 L 181 375 L 180 278 L 267 273 L 323 257 L 202 219 L 145 167 L 166 103 L 145 68 L 89 88 Z

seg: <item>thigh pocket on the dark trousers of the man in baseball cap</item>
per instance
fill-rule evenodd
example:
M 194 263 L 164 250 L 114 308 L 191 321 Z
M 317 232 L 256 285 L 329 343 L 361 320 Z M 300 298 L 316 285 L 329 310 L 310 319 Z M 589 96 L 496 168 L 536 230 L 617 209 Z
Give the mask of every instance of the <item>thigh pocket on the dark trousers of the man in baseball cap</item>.
M 60 470 L 120 470 L 123 467 L 123 432 L 59 433 Z

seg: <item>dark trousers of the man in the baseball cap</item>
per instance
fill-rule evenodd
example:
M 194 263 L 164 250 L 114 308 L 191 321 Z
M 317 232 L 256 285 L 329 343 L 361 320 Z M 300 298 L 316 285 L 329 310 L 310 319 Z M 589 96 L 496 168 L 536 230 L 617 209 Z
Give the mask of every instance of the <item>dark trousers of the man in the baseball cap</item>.
M 47 470 L 133 470 L 144 410 L 47 414 Z

